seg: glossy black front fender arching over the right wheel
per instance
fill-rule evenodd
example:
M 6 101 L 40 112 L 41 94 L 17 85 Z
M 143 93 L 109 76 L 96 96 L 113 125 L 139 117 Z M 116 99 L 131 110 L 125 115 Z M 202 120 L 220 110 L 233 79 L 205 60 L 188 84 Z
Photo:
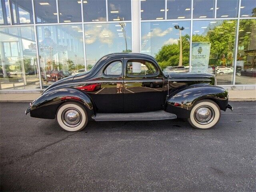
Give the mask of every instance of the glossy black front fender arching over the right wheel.
M 189 118 L 193 105 L 202 99 L 209 99 L 226 111 L 228 107 L 228 91 L 212 85 L 188 86 L 177 90 L 166 98 L 164 110 L 176 114 L 178 118 Z

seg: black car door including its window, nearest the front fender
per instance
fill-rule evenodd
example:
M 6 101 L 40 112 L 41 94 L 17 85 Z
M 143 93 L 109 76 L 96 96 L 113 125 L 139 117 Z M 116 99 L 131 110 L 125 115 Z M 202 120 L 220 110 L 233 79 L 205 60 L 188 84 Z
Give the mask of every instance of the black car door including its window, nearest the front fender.
M 124 58 L 124 112 L 163 109 L 163 84 L 163 74 L 154 61 Z

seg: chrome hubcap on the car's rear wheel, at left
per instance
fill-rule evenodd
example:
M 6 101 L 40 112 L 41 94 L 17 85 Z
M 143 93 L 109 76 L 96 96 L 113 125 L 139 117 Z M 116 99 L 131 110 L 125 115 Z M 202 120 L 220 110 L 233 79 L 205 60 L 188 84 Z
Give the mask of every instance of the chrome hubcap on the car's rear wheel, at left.
M 80 124 L 82 116 L 75 108 L 67 108 L 62 112 L 62 121 L 66 126 L 75 127 Z

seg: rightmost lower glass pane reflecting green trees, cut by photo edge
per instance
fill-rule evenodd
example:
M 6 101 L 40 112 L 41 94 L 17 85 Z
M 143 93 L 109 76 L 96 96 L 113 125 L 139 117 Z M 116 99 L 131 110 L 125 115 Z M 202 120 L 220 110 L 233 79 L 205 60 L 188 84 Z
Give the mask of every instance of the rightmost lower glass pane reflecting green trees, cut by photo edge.
M 235 84 L 256 84 L 256 19 L 239 23 Z

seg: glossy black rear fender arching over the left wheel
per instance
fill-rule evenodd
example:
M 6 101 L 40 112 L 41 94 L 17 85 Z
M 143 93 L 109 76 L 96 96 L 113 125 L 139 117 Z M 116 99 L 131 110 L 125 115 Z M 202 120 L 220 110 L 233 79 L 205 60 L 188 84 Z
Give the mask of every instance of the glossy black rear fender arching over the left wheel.
M 95 107 L 90 96 L 75 88 L 50 90 L 42 94 L 30 106 L 30 116 L 54 119 L 58 107 L 64 102 L 78 102 L 84 106 L 89 120 L 95 115 Z

